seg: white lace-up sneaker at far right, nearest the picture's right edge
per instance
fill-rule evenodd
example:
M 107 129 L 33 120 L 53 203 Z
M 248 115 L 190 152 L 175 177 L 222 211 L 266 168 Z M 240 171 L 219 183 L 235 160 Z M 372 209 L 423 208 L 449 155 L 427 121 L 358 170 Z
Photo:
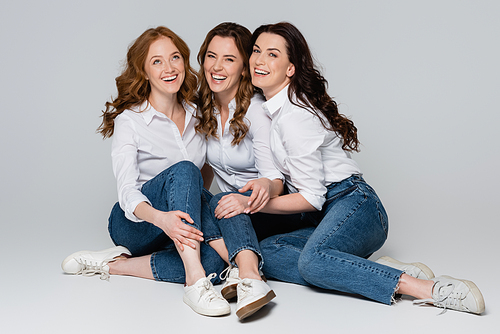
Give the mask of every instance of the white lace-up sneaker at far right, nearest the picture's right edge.
M 432 298 L 414 300 L 413 304 L 425 303 L 447 309 L 481 314 L 484 312 L 484 298 L 479 288 L 471 281 L 440 276 L 432 279 Z

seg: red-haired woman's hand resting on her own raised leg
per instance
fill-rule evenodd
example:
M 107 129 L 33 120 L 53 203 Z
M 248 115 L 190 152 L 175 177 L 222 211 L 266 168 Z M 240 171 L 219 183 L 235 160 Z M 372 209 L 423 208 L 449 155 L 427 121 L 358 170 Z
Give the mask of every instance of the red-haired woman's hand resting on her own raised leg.
M 193 241 L 203 241 L 203 233 L 187 225 L 181 219 L 185 219 L 189 223 L 194 223 L 189 214 L 185 212 L 158 211 L 154 224 L 161 228 L 181 251 L 184 250 L 183 245 L 196 249 L 196 244 Z

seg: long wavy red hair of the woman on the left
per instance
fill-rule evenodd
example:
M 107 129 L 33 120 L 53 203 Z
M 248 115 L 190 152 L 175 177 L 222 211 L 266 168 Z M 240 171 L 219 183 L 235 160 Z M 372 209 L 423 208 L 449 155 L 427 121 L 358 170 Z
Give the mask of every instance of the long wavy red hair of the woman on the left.
M 129 47 L 125 69 L 115 79 L 118 96 L 111 102 L 106 102 L 106 110 L 102 112 L 102 123 L 97 129 L 97 132 L 103 138 L 109 138 L 113 135 L 116 116 L 126 109 L 142 104 L 148 99 L 151 93 L 151 86 L 149 81 L 146 80 L 144 64 L 150 45 L 161 37 L 170 38 L 177 49 L 179 49 L 184 60 L 186 74 L 184 82 L 177 93 L 177 101 L 179 103 L 185 101 L 193 107 L 195 106 L 197 102 L 196 87 L 198 85 L 198 77 L 189 65 L 190 51 L 187 44 L 166 27 L 159 26 L 148 29 Z

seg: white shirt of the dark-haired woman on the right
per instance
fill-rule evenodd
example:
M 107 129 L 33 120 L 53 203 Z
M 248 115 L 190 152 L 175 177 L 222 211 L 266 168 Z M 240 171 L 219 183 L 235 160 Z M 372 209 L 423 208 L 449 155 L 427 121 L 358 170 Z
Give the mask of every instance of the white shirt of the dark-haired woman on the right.
M 272 118 L 270 145 L 274 163 L 285 175 L 290 193 L 298 192 L 321 210 L 326 186 L 361 174 L 349 152 L 342 149 L 342 138 L 325 129 L 309 110 L 290 102 L 288 86 L 263 107 Z

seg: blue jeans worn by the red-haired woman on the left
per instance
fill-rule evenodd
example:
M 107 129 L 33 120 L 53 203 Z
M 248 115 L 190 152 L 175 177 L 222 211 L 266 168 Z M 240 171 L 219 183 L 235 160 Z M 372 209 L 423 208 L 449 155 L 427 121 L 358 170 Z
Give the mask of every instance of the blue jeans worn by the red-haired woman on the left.
M 194 224 L 183 222 L 201 229 L 202 215 L 209 214 L 208 204 L 202 202 L 202 189 L 203 179 L 198 167 L 190 161 L 181 161 L 146 182 L 141 192 L 155 209 L 186 212 Z M 182 259 L 174 242 L 162 229 L 145 221 L 128 220 L 118 203 L 111 210 L 108 229 L 115 245 L 127 247 L 132 256 L 151 254 L 151 270 L 157 281 L 185 282 Z M 200 246 L 205 271 L 220 274 L 224 270 L 224 261 L 211 247 L 203 242 Z

